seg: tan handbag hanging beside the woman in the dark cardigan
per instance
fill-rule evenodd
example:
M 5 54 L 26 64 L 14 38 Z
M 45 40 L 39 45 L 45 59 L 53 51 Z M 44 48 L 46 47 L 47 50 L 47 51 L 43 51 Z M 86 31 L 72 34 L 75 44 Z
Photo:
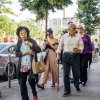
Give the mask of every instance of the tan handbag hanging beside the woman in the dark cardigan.
M 35 56 L 37 56 L 37 54 Z M 42 52 L 38 60 L 35 59 L 35 58 L 38 58 L 35 56 L 32 61 L 32 71 L 33 71 L 33 74 L 39 74 L 45 71 L 45 63 L 42 56 Z

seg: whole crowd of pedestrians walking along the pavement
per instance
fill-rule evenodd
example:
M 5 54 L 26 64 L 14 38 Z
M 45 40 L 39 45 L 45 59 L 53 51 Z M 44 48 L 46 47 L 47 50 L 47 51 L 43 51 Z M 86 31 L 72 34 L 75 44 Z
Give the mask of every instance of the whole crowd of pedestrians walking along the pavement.
M 42 48 L 44 52 L 46 51 L 44 59 L 46 70 L 40 77 L 32 72 L 32 61 L 36 59 L 34 55 L 41 52 L 40 46 L 30 37 L 27 27 L 19 26 L 16 34 L 18 36 L 16 56 L 19 57 L 17 73 L 22 100 L 29 100 L 27 77 L 32 89 L 33 100 L 38 100 L 36 86 L 44 89 L 48 80 L 51 80 L 51 87 L 56 86 L 59 60 L 63 65 L 63 97 L 71 94 L 70 80 L 72 76 L 76 91 L 81 92 L 80 83 L 86 86 L 87 68 L 90 68 L 92 58 L 96 58 L 100 54 L 100 44 L 97 39 L 95 42 L 91 42 L 90 36 L 82 25 L 76 26 L 73 22 L 68 23 L 67 29 L 61 34 L 59 41 L 53 36 L 51 28 L 47 30 L 47 39 L 44 40 Z M 70 74 L 71 72 L 73 75 Z

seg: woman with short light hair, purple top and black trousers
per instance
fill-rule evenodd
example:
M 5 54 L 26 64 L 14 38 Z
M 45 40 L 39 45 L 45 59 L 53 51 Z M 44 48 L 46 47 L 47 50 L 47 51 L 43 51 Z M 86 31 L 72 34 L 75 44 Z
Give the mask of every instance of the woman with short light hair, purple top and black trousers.
M 78 26 L 78 33 L 81 36 L 84 43 L 84 49 L 80 54 L 80 81 L 82 82 L 82 85 L 85 86 L 88 79 L 87 68 L 88 68 L 89 56 L 90 53 L 92 53 L 93 48 L 90 36 L 85 33 L 82 25 Z

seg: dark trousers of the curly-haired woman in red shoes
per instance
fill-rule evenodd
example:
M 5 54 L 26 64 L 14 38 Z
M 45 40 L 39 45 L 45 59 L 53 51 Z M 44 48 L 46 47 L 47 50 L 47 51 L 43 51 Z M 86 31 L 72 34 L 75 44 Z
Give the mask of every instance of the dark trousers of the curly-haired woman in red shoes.
M 28 76 L 28 72 L 20 73 L 20 91 L 21 91 L 22 100 L 29 100 L 28 90 L 27 90 L 27 86 L 26 86 L 27 76 Z M 33 96 L 36 96 L 37 92 L 36 92 L 36 87 L 35 87 L 35 78 L 31 79 L 29 77 L 28 82 L 32 89 Z

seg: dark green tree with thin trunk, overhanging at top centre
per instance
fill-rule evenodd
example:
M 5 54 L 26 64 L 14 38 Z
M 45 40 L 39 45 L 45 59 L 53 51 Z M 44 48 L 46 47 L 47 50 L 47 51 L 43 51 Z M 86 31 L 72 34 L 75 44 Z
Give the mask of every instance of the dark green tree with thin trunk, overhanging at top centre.
M 47 30 L 47 17 L 49 11 L 55 12 L 55 9 L 63 9 L 63 6 L 68 6 L 71 4 L 71 0 L 19 0 L 22 6 L 22 10 L 28 9 L 34 12 L 36 20 L 46 19 L 46 29 Z

